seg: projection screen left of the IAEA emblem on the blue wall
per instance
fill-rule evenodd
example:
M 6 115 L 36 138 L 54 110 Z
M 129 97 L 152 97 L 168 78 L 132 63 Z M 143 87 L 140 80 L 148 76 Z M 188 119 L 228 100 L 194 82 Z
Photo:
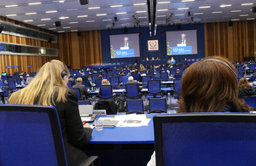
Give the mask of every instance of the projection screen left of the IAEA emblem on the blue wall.
M 110 35 L 111 58 L 140 57 L 139 34 Z

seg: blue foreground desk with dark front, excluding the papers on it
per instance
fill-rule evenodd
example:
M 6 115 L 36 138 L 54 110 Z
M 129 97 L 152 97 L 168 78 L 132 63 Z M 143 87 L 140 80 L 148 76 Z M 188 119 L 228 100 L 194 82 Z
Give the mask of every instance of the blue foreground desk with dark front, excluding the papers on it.
M 148 126 L 93 129 L 86 154 L 99 156 L 103 166 L 147 165 L 154 152 L 154 115 L 146 117 Z

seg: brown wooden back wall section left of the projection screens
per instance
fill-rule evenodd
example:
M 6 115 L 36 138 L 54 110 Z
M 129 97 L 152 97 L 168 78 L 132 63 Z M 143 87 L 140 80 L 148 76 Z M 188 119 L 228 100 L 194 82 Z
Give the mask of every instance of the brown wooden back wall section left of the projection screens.
M 60 33 L 58 37 L 60 58 L 72 69 L 102 64 L 101 31 Z

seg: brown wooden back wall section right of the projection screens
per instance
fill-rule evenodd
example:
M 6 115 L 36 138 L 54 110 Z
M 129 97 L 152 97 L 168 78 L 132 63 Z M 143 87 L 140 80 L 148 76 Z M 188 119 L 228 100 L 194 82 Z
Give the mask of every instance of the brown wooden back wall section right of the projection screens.
M 256 60 L 256 20 L 205 24 L 206 57 L 218 55 L 233 61 L 254 56 Z

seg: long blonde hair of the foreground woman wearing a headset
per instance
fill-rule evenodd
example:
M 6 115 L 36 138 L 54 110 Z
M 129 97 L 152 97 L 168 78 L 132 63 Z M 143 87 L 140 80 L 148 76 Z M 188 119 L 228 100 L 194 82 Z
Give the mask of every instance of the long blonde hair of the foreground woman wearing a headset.
M 60 60 L 51 60 L 39 69 L 32 82 L 19 91 L 12 94 L 9 104 L 33 105 L 38 100 L 38 105 L 55 106 L 54 97 L 57 95 L 57 102 L 66 101 L 67 84 L 61 77 L 61 72 L 69 72 L 67 66 Z

